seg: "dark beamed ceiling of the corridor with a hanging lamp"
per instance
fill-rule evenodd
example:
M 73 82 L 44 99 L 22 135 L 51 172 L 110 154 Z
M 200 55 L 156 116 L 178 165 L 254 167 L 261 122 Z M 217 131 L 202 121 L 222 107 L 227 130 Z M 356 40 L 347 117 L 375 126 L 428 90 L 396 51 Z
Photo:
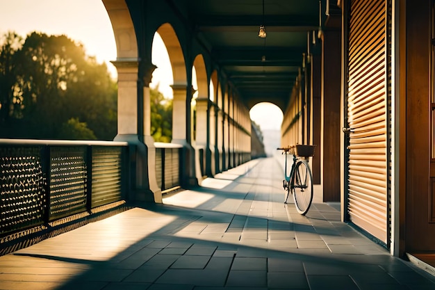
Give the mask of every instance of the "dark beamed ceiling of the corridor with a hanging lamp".
M 309 35 L 315 49 L 319 0 L 264 0 L 264 16 L 263 0 L 186 0 L 183 5 L 199 39 L 245 104 L 272 102 L 284 111 Z M 266 38 L 258 37 L 261 24 Z

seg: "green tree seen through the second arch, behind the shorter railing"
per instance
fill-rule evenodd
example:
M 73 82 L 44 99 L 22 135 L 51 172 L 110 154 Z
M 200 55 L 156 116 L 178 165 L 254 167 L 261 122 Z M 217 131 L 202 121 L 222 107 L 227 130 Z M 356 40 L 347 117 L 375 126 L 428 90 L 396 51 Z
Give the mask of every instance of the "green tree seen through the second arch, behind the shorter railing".
M 151 136 L 155 142 L 172 140 L 172 99 L 167 99 L 157 88 L 151 88 Z

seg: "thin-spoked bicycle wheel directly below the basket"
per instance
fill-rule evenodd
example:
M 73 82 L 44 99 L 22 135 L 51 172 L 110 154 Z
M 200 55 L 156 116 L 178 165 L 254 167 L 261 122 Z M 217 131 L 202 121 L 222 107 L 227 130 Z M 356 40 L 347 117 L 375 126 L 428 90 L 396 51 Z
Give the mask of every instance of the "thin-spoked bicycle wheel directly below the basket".
M 313 201 L 313 175 L 306 161 L 297 162 L 291 188 L 297 212 L 305 215 Z

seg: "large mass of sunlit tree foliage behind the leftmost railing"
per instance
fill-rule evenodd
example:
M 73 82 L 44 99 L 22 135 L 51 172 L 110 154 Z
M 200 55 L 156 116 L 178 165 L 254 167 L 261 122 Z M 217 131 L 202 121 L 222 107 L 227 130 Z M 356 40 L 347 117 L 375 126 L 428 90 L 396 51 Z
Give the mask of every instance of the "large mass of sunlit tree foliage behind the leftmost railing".
M 65 35 L 0 40 L 0 137 L 113 140 L 117 85 Z M 85 128 L 68 136 L 65 128 Z M 93 137 L 92 137 L 93 136 Z

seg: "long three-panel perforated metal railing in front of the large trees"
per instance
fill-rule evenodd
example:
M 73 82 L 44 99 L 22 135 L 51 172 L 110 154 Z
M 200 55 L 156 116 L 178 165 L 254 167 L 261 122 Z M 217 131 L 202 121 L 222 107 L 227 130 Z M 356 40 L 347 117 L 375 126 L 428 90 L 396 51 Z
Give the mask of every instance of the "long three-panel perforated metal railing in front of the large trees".
M 124 199 L 127 143 L 0 139 L 0 236 Z

